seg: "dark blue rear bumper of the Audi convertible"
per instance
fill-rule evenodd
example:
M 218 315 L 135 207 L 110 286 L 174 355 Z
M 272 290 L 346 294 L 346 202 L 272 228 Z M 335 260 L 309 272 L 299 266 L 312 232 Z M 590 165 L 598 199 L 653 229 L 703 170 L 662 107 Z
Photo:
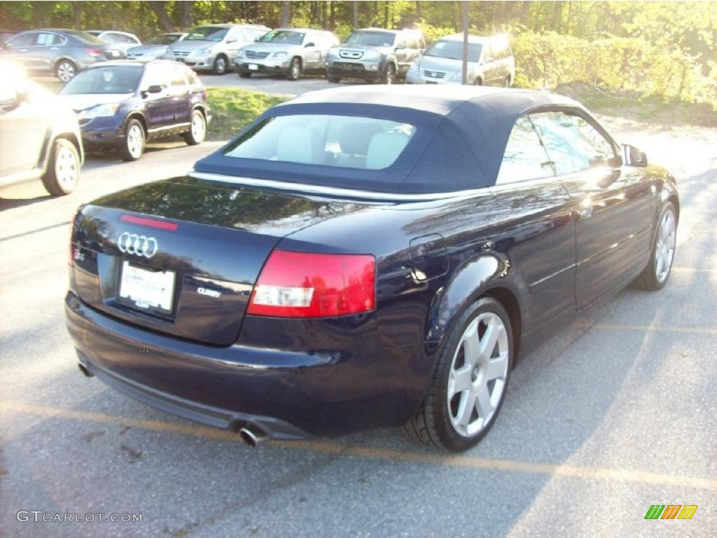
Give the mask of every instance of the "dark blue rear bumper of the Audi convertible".
M 140 329 L 74 293 L 67 328 L 85 367 L 153 407 L 207 425 L 256 425 L 277 439 L 345 435 L 409 420 L 430 369 L 423 345 L 286 351 L 214 347 Z M 269 337 L 270 338 L 270 337 Z

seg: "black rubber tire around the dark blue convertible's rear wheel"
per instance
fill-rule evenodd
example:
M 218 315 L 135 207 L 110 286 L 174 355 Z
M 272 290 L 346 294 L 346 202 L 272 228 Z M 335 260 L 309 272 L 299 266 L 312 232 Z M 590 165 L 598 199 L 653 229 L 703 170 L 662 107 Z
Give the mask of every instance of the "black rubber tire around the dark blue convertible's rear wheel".
M 503 390 L 500 394 L 498 405 L 488 418 L 488 423 L 483 426 L 475 435 L 460 435 L 451 422 L 450 409 L 452 400 L 447 397 L 450 372 L 453 367 L 454 357 L 456 360 L 460 355 L 458 346 L 462 342 L 462 336 L 473 323 L 473 321 L 485 313 L 492 313 L 500 318 L 505 326 L 505 336 L 508 345 L 508 368 L 505 373 Z M 480 332 L 479 332 L 480 334 Z M 419 406 L 411 420 L 404 425 L 404 432 L 409 438 L 429 448 L 442 448 L 452 452 L 462 452 L 475 446 L 495 423 L 500 412 L 500 407 L 505 400 L 505 393 L 508 390 L 508 381 L 513 368 L 513 331 L 511 320 L 505 308 L 492 297 L 483 297 L 475 301 L 465 309 L 460 318 L 454 322 L 447 335 L 445 347 L 438 359 L 433 379 L 424 401 Z M 465 359 L 464 359 L 465 360 Z M 475 382 L 475 378 L 473 382 Z M 495 388 L 495 385 L 493 386 Z M 490 394 L 490 392 L 489 392 Z M 473 412 L 473 411 L 472 411 Z M 472 414 L 470 415 L 473 416 Z

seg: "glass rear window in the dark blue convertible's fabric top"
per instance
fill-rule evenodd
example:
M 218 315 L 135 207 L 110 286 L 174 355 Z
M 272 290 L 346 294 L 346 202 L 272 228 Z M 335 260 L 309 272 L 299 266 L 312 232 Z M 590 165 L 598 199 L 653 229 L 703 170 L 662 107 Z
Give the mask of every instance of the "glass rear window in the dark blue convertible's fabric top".
M 268 118 L 224 150 L 237 159 L 262 159 L 363 170 L 388 168 L 416 128 L 376 118 L 297 114 Z

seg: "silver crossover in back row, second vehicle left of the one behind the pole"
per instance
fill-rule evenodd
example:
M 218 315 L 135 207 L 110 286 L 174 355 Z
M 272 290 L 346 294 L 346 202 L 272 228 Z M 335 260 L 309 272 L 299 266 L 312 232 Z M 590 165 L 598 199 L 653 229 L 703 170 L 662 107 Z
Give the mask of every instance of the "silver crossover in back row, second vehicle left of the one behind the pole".
M 302 73 L 326 70 L 326 56 L 338 45 L 331 32 L 303 28 L 279 28 L 237 52 L 235 67 L 239 77 L 252 73 L 282 73 L 298 80 Z

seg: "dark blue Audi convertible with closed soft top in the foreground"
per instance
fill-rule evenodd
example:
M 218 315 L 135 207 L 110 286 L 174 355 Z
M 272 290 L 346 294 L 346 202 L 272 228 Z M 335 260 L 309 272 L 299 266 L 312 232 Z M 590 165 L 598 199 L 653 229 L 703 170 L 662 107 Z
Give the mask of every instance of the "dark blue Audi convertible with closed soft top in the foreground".
M 404 426 L 465 450 L 536 335 L 665 285 L 679 210 L 559 95 L 327 90 L 82 207 L 67 324 L 86 375 L 252 445 Z

